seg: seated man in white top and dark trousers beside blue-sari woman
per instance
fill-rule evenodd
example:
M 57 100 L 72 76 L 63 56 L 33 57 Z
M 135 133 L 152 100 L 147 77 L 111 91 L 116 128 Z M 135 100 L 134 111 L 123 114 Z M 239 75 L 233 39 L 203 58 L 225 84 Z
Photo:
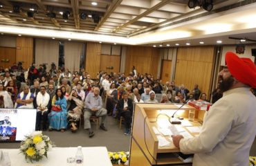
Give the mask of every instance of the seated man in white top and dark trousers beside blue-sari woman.
M 40 86 L 40 92 L 37 93 L 37 97 L 35 97 L 34 107 L 37 109 L 37 119 L 35 123 L 35 130 L 41 130 L 41 120 L 43 117 L 43 130 L 45 131 L 48 109 L 51 106 L 50 95 L 46 93 L 46 86 Z

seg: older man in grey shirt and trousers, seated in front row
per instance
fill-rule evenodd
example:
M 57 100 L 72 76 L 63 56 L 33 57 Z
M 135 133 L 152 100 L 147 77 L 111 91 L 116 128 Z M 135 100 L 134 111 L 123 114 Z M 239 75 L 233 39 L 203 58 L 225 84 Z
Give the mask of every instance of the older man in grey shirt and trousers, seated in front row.
M 91 129 L 90 118 L 92 115 L 102 117 L 100 129 L 107 131 L 104 127 L 105 119 L 107 118 L 107 109 L 102 108 L 102 98 L 100 97 L 100 89 L 95 87 L 93 94 L 87 95 L 85 99 L 85 110 L 84 110 L 84 129 L 89 130 L 89 138 L 94 136 L 94 132 Z

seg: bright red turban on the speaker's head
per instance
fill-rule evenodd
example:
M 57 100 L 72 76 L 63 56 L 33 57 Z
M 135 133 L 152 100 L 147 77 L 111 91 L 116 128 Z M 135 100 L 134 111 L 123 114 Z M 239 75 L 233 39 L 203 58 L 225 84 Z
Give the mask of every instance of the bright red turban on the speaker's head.
M 228 70 L 239 82 L 256 88 L 256 66 L 250 58 L 238 57 L 235 53 L 226 53 Z

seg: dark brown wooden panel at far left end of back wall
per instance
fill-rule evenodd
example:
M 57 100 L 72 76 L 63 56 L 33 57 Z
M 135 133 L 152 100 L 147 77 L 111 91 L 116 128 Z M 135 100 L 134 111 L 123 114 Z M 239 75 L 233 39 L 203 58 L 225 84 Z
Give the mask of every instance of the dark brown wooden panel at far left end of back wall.
M 16 62 L 16 48 L 0 47 L 0 66 L 9 68 Z

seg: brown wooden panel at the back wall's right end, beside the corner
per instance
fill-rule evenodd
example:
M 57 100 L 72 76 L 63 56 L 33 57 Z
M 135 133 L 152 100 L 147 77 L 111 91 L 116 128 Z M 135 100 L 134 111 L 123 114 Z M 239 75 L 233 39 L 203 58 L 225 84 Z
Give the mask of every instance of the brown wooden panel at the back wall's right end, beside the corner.
M 150 73 L 156 77 L 159 50 L 143 46 L 127 46 L 125 74 L 128 75 L 135 66 L 137 73 Z

